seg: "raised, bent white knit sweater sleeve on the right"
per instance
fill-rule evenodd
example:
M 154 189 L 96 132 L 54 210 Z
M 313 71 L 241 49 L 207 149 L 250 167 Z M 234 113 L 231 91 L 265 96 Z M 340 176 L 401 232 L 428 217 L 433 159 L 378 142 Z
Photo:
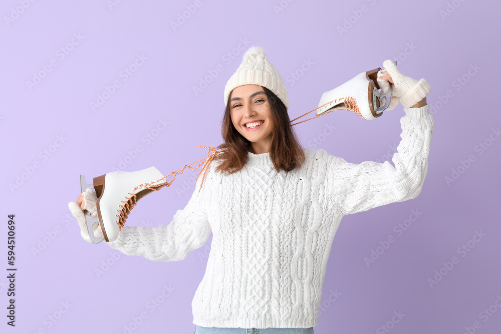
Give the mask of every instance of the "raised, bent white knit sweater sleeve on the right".
M 402 140 L 389 161 L 348 163 L 331 156 L 328 183 L 334 204 L 343 215 L 366 211 L 415 198 L 421 192 L 428 169 L 433 118 L 428 105 L 404 108 L 400 119 Z

